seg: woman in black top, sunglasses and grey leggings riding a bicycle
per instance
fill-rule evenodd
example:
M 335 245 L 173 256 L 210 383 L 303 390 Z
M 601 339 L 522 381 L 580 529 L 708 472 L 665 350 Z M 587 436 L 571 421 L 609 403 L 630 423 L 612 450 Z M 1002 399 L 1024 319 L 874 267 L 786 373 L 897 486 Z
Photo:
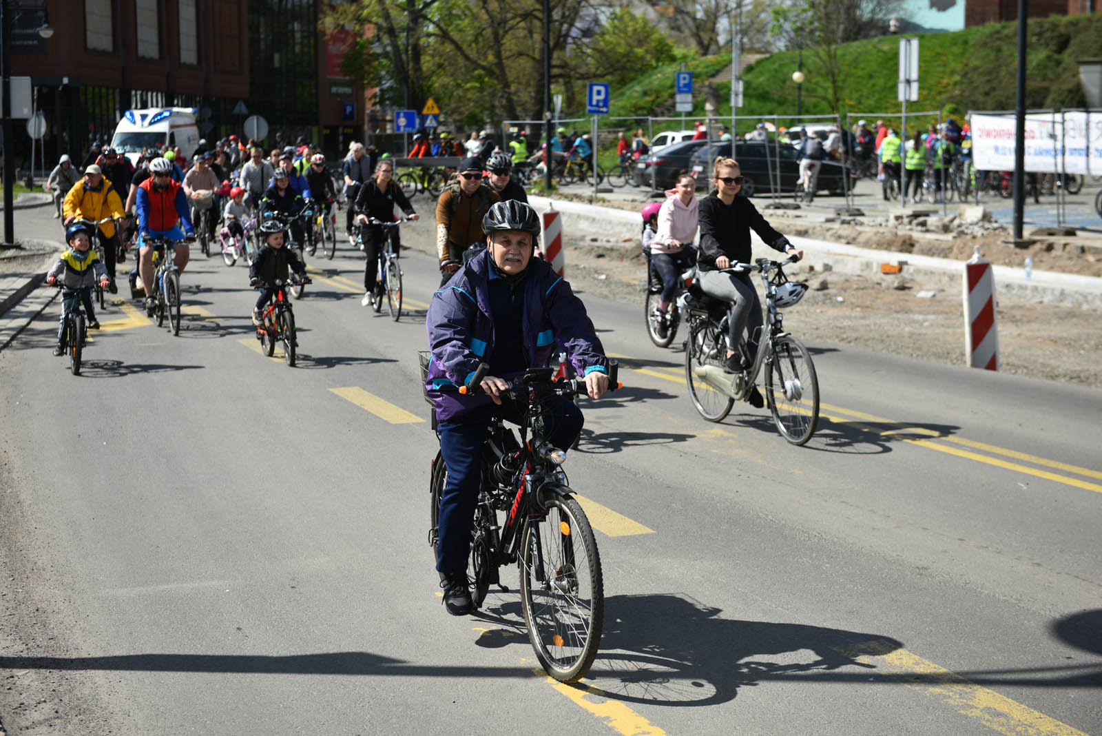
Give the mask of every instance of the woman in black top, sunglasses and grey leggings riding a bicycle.
M 730 333 L 727 335 L 726 369 L 736 372 L 748 367 L 757 349 L 756 328 L 761 326 L 761 302 L 748 272 L 731 273 L 723 269 L 734 263 L 749 263 L 750 228 L 769 247 L 784 253 L 791 252 L 796 260 L 803 257 L 788 238 L 770 227 L 757 208 L 739 192 L 742 170 L 734 159 L 716 159 L 713 172 L 715 190 L 700 203 L 700 288 L 709 296 L 731 303 Z M 738 338 L 749 325 L 748 356 L 735 351 Z M 757 399 L 755 401 L 754 399 Z M 760 393 L 755 389 L 750 403 L 760 407 Z

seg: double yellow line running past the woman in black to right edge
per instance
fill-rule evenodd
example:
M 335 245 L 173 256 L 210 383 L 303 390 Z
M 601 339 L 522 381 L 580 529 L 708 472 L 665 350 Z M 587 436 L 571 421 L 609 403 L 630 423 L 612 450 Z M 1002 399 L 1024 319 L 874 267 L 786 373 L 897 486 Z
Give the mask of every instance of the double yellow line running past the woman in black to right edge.
M 635 360 L 635 358 L 631 358 L 630 356 L 626 356 L 626 355 L 619 355 L 619 356 L 617 356 L 615 354 L 609 354 L 609 356 L 612 356 L 612 357 L 618 357 L 618 358 L 624 358 L 626 360 Z M 665 380 L 668 380 L 668 381 L 673 381 L 676 383 L 680 383 L 682 386 L 685 386 L 685 380 L 684 380 L 684 376 L 683 375 L 681 375 L 681 376 L 667 375 L 667 374 L 659 372 L 658 370 L 651 370 L 649 368 L 630 368 L 628 366 L 624 366 L 624 368 L 626 370 L 631 370 L 631 371 L 637 372 L 637 374 L 644 374 L 645 376 L 651 376 L 653 378 L 661 378 L 661 379 L 665 379 Z M 674 370 L 673 368 L 666 368 L 666 369 L 667 370 L 671 370 L 671 371 Z M 879 429 L 877 426 L 873 426 L 871 424 L 864 424 L 864 423 L 862 423 L 862 422 L 860 422 L 857 420 L 864 420 L 865 422 L 876 422 L 876 423 L 884 423 L 884 424 L 893 424 L 893 425 L 897 425 L 897 424 L 899 424 L 899 422 L 895 422 L 895 421 L 893 421 L 890 419 L 885 419 L 883 416 L 876 416 L 875 414 L 866 414 L 864 412 L 855 411 L 853 409 L 845 409 L 843 407 L 835 407 L 835 405 L 829 404 L 829 403 L 821 403 L 820 402 L 819 407 L 820 407 L 820 413 L 819 413 L 819 415 L 821 418 L 823 418 L 823 419 L 827 419 L 827 420 L 831 421 L 832 423 L 835 423 L 835 424 L 851 424 L 853 426 L 858 426 L 861 429 L 864 429 L 864 430 L 866 430 L 868 432 L 873 432 L 873 433 L 879 434 L 882 436 L 890 436 L 893 434 L 900 434 L 900 433 L 925 434 L 925 435 L 928 435 L 928 436 L 930 436 L 932 439 L 939 440 L 941 442 L 952 442 L 952 443 L 955 443 L 955 444 L 959 444 L 959 445 L 964 445 L 966 447 L 972 447 L 974 450 L 982 450 L 984 452 L 988 452 L 988 453 L 996 454 L 996 455 L 1005 455 L 1006 457 L 1013 457 L 1015 459 L 1025 461 L 1027 463 L 1035 463 L 1037 465 L 1045 465 L 1047 467 L 1052 467 L 1052 468 L 1057 468 L 1057 469 L 1060 469 L 1060 470 L 1066 470 L 1068 473 L 1073 473 L 1076 475 L 1085 475 L 1085 476 L 1089 476 L 1089 477 L 1092 477 L 1092 478 L 1102 478 L 1102 472 L 1099 472 L 1099 470 L 1092 470 L 1091 468 L 1080 467 L 1078 465 L 1071 465 L 1069 463 L 1061 463 L 1059 461 L 1051 461 L 1051 459 L 1047 459 L 1045 457 L 1038 457 L 1037 455 L 1030 455 L 1028 453 L 1022 453 L 1022 452 L 1018 452 L 1016 450 L 1008 450 L 1006 447 L 998 447 L 996 445 L 990 445 L 990 444 L 986 444 L 986 443 L 983 443 L 983 442 L 976 442 L 974 440 L 968 440 L 968 439 L 964 439 L 964 437 L 957 437 L 957 436 L 952 436 L 952 435 L 943 435 L 940 432 L 936 432 L 933 430 L 928 430 L 928 429 L 922 427 L 922 426 L 908 426 L 908 427 L 898 427 L 898 426 L 896 426 L 896 427 L 890 429 L 890 430 L 882 430 L 882 429 Z M 842 414 L 846 414 L 847 416 L 853 416 L 855 419 L 847 419 L 847 418 L 842 418 L 842 416 L 832 416 L 830 414 L 823 413 L 822 410 L 829 410 L 829 411 L 840 412 Z M 1033 476 L 1036 476 L 1038 478 L 1045 478 L 1046 480 L 1055 480 L 1056 483 L 1062 483 L 1065 485 L 1073 486 L 1076 488 L 1082 488 L 1084 490 L 1093 490 L 1095 493 L 1102 493 L 1102 485 L 1090 483 L 1090 481 L 1087 481 L 1087 480 L 1080 480 L 1079 478 L 1071 478 L 1071 477 L 1068 477 L 1066 475 L 1059 475 L 1059 474 L 1056 474 L 1056 473 L 1049 473 L 1048 470 L 1041 470 L 1041 469 L 1038 469 L 1038 468 L 1031 468 L 1031 467 L 1028 467 L 1026 465 L 1019 465 L 1017 463 L 1009 463 L 1009 462 L 1006 462 L 1006 461 L 998 459 L 996 457 L 987 457 L 986 455 L 980 455 L 979 453 L 972 453 L 972 452 L 968 452 L 965 450 L 959 450 L 957 447 L 947 446 L 947 445 L 940 444 L 938 442 L 933 442 L 932 440 L 917 440 L 917 439 L 914 439 L 914 437 L 897 437 L 897 439 L 900 440 L 900 441 L 903 441 L 903 442 L 909 442 L 911 444 L 918 445 L 920 447 L 927 447 L 929 450 L 936 450 L 938 452 L 948 453 L 950 455 L 957 455 L 958 457 L 964 457 L 966 459 L 975 461 L 977 463 L 984 463 L 986 465 L 994 465 L 996 467 L 1002 467 L 1002 468 L 1005 468 L 1007 470 L 1014 470 L 1016 473 L 1025 473 L 1026 475 L 1033 475 Z

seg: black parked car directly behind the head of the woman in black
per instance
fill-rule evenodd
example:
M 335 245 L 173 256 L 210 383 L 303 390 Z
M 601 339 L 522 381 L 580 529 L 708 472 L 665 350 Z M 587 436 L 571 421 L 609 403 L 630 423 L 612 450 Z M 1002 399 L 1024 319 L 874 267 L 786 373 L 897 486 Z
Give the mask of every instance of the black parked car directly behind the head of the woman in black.
M 702 143 L 703 141 L 693 141 Z M 766 158 L 768 155 L 768 159 Z M 707 149 L 698 148 L 693 151 L 689 170 L 699 172 L 696 175 L 696 188 L 707 190 L 712 186 L 712 167 L 715 159 L 733 158 L 738 162 L 738 167 L 743 174 L 742 193 L 748 197 L 756 194 L 770 194 L 769 172 L 773 170 L 773 181 L 776 183 L 778 171 L 774 170 L 779 163 L 780 190 L 779 193 L 790 193 L 796 191 L 796 182 L 800 178 L 800 166 L 798 151 L 791 145 L 780 144 L 776 141 L 738 141 L 735 155 L 731 155 L 731 141 L 713 142 L 712 159 L 707 159 Z M 659 169 L 661 172 L 661 169 Z M 843 169 L 836 161 L 823 161 L 819 169 L 817 180 L 817 191 L 827 191 L 831 194 L 844 195 Z M 668 187 L 667 187 L 668 188 Z

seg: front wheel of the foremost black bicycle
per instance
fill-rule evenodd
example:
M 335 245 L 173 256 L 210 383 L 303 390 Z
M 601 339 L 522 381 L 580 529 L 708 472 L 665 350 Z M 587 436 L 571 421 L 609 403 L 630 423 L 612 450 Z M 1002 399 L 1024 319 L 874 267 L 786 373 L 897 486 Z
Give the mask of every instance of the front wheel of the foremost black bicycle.
M 597 541 L 573 498 L 552 499 L 547 517 L 525 528 L 520 599 L 528 638 L 560 682 L 585 675 L 597 656 L 605 594 Z

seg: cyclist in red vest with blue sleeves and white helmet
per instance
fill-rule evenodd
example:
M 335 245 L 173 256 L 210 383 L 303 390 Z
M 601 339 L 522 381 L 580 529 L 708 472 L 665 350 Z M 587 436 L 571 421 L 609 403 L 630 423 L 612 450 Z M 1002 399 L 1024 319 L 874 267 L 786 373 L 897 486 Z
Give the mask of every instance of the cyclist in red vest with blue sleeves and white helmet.
M 150 177 L 138 187 L 136 208 L 138 210 L 138 232 L 141 238 L 138 273 L 145 288 L 145 312 L 153 314 L 156 305 L 150 285 L 153 283 L 153 247 L 147 245 L 151 237 L 164 238 L 173 242 L 173 262 L 184 272 L 191 253 L 184 238 L 195 238 L 192 213 L 187 206 L 183 185 L 172 177 L 173 165 L 168 159 L 149 162 Z M 183 229 L 181 229 L 183 226 Z M 168 253 L 165 253 L 168 258 Z

